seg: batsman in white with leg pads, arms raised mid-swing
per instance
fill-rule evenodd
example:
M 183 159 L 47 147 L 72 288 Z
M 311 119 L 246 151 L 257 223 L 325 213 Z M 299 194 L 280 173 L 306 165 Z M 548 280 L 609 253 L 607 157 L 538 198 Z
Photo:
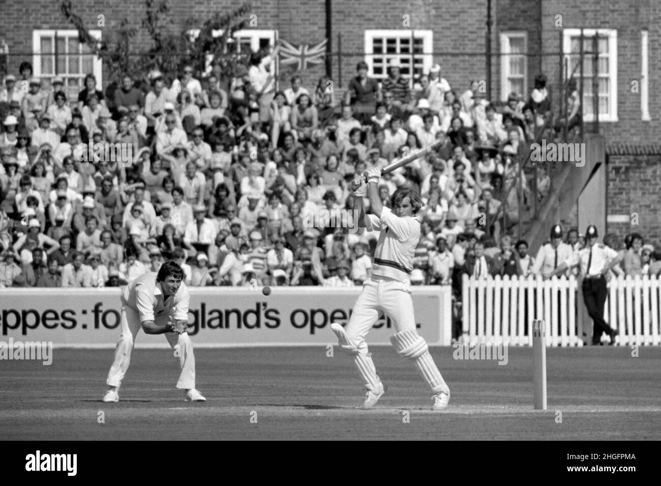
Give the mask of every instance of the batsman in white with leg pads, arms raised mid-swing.
M 379 230 L 371 277 L 354 305 L 349 323 L 344 329 L 332 323 L 340 347 L 354 356 L 354 363 L 368 389 L 363 407 L 373 407 L 385 393 L 385 385 L 376 373 L 365 337 L 376 323 L 379 311 L 384 311 L 395 325 L 397 333 L 390 341 L 400 356 L 414 361 L 423 380 L 432 389 L 432 410 L 444 410 L 450 391 L 438 371 L 427 343 L 416 331 L 409 274 L 412 270 L 415 247 L 420 239 L 420 223 L 413 215 L 420 210 L 418 195 L 409 188 L 399 188 L 391 198 L 391 207 L 384 208 L 379 198 L 380 171 L 368 169 L 365 176 L 352 182 L 354 214 L 360 214 L 358 225 L 368 231 Z M 362 198 L 368 192 L 372 214 L 363 213 Z

